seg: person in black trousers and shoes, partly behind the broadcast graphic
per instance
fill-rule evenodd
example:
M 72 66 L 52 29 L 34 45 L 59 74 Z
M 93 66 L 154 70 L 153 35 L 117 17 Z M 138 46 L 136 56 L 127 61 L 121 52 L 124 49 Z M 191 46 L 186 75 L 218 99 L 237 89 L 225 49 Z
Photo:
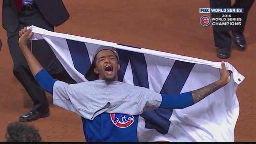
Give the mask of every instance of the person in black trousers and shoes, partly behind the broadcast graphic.
M 254 0 L 236 0 L 233 6 L 231 6 L 231 0 L 210 0 L 211 8 L 244 8 L 244 13 L 232 14 L 232 17 L 242 18 L 241 26 L 212 26 L 215 47 L 217 50 L 217 57 L 219 58 L 229 58 L 231 50 L 232 38 L 236 49 L 239 51 L 244 51 L 246 49 L 246 41 L 243 35 L 247 14 L 250 10 Z M 212 13 L 211 16 L 221 18 L 221 13 Z M 230 30 L 232 31 L 232 37 L 230 35 Z

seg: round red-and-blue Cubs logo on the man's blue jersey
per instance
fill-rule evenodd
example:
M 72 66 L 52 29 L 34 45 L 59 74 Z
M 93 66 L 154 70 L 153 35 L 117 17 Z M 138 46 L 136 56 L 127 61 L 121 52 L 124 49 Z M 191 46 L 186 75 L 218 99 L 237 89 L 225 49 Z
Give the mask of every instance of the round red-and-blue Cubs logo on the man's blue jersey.
M 111 121 L 119 128 L 127 128 L 134 122 L 134 116 L 125 114 L 110 114 Z

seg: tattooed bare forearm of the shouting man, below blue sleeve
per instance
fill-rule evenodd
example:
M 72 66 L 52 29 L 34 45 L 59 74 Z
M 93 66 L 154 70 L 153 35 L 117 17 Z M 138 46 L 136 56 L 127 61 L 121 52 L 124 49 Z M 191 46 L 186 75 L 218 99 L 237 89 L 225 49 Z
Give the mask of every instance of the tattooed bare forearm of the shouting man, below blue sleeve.
M 206 96 L 210 95 L 211 93 L 215 92 L 219 88 L 221 88 L 221 85 L 218 85 L 215 82 L 215 83 L 209 84 L 203 88 L 192 91 L 191 94 L 194 99 L 194 103 L 199 102 L 200 100 L 202 100 Z

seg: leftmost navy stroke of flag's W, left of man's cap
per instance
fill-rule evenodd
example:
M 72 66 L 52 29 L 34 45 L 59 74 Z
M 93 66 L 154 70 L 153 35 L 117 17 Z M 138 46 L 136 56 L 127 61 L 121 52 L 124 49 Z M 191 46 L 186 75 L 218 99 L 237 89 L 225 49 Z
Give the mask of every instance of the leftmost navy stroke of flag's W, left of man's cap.
M 85 74 L 91 65 L 85 43 L 68 39 L 66 40 L 75 69 L 81 74 Z

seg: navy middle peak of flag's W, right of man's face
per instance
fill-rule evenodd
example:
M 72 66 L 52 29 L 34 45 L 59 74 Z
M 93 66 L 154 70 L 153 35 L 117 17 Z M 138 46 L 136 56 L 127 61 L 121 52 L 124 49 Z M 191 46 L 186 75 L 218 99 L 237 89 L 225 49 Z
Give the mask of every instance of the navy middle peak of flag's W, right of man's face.
M 149 88 L 147 65 L 144 54 L 121 49 L 117 49 L 117 52 L 120 58 L 121 65 L 118 72 L 118 81 L 123 81 L 124 74 L 130 60 L 133 75 L 133 84 L 136 86 Z

